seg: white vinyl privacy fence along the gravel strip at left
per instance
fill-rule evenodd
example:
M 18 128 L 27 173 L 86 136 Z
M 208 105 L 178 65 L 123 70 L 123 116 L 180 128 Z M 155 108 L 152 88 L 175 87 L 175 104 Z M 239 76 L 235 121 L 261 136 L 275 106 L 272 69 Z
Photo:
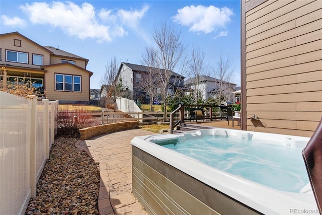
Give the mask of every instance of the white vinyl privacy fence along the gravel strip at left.
M 0 92 L 0 214 L 24 214 L 57 129 L 58 101 Z

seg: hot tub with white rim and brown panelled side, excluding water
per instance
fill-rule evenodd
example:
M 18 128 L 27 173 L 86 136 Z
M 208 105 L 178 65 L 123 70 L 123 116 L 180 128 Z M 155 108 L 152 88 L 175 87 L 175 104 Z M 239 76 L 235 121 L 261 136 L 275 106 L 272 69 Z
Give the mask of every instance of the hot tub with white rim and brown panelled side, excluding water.
M 226 138 L 269 141 L 269 145 L 286 150 L 301 150 L 309 140 L 308 137 L 222 128 L 134 137 L 131 140 L 132 192 L 149 214 L 318 214 L 308 178 L 308 184 L 298 191 L 283 191 L 165 147 L 184 145 L 191 140 L 199 142 L 200 138 L 209 136 L 223 141 Z M 300 154 L 298 159 L 301 160 L 298 168 L 305 169 Z

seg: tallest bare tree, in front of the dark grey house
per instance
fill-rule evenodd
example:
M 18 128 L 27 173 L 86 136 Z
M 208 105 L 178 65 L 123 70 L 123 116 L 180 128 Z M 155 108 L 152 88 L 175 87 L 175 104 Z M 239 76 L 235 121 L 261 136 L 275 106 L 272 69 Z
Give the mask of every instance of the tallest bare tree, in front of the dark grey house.
M 181 73 L 184 71 L 186 63 L 182 62 L 186 59 L 186 47 L 181 38 L 181 32 L 175 31 L 166 23 L 154 27 L 152 36 L 156 44 L 153 65 L 158 68 L 155 70 L 156 85 L 161 102 L 164 104 L 164 120 L 166 121 L 168 103 L 174 97 L 181 95 L 178 91 L 180 90 L 179 85 L 183 84 L 181 83 L 182 76 L 178 73 L 174 74 L 174 70 L 181 67 Z M 144 58 L 147 55 L 143 55 L 143 61 L 146 61 Z

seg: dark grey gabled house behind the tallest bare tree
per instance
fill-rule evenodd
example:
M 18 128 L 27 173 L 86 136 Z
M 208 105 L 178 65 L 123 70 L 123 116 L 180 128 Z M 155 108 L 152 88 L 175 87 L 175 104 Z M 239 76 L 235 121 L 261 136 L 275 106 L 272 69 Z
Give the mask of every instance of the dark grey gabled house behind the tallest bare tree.
M 117 77 L 122 78 L 123 85 L 128 88 L 129 94 L 132 95 L 134 101 L 137 99 L 140 99 L 141 102 L 143 100 L 144 103 L 149 101 L 149 98 L 147 98 L 145 93 L 139 89 L 139 86 L 142 82 L 144 82 L 143 74 L 149 73 L 151 70 L 163 71 L 163 69 L 159 68 L 152 68 L 125 62 L 121 63 Z M 170 79 L 170 86 L 172 87 L 168 89 L 168 92 L 173 95 L 178 88 L 183 88 L 184 78 L 185 77 L 172 71 L 172 77 Z

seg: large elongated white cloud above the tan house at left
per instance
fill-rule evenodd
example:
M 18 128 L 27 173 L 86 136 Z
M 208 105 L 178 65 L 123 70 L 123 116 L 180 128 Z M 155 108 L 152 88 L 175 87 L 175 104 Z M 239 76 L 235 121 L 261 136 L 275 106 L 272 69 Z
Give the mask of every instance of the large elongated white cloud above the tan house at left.
M 127 34 L 123 26 L 136 26 L 148 7 L 144 6 L 140 11 L 118 10 L 114 14 L 112 10 L 102 9 L 96 14 L 95 8 L 89 3 L 78 6 L 72 2 L 34 2 L 30 5 L 27 3 L 20 9 L 29 16 L 33 24 L 57 27 L 70 36 L 81 39 L 94 38 L 99 42 L 110 42 L 114 37 Z

